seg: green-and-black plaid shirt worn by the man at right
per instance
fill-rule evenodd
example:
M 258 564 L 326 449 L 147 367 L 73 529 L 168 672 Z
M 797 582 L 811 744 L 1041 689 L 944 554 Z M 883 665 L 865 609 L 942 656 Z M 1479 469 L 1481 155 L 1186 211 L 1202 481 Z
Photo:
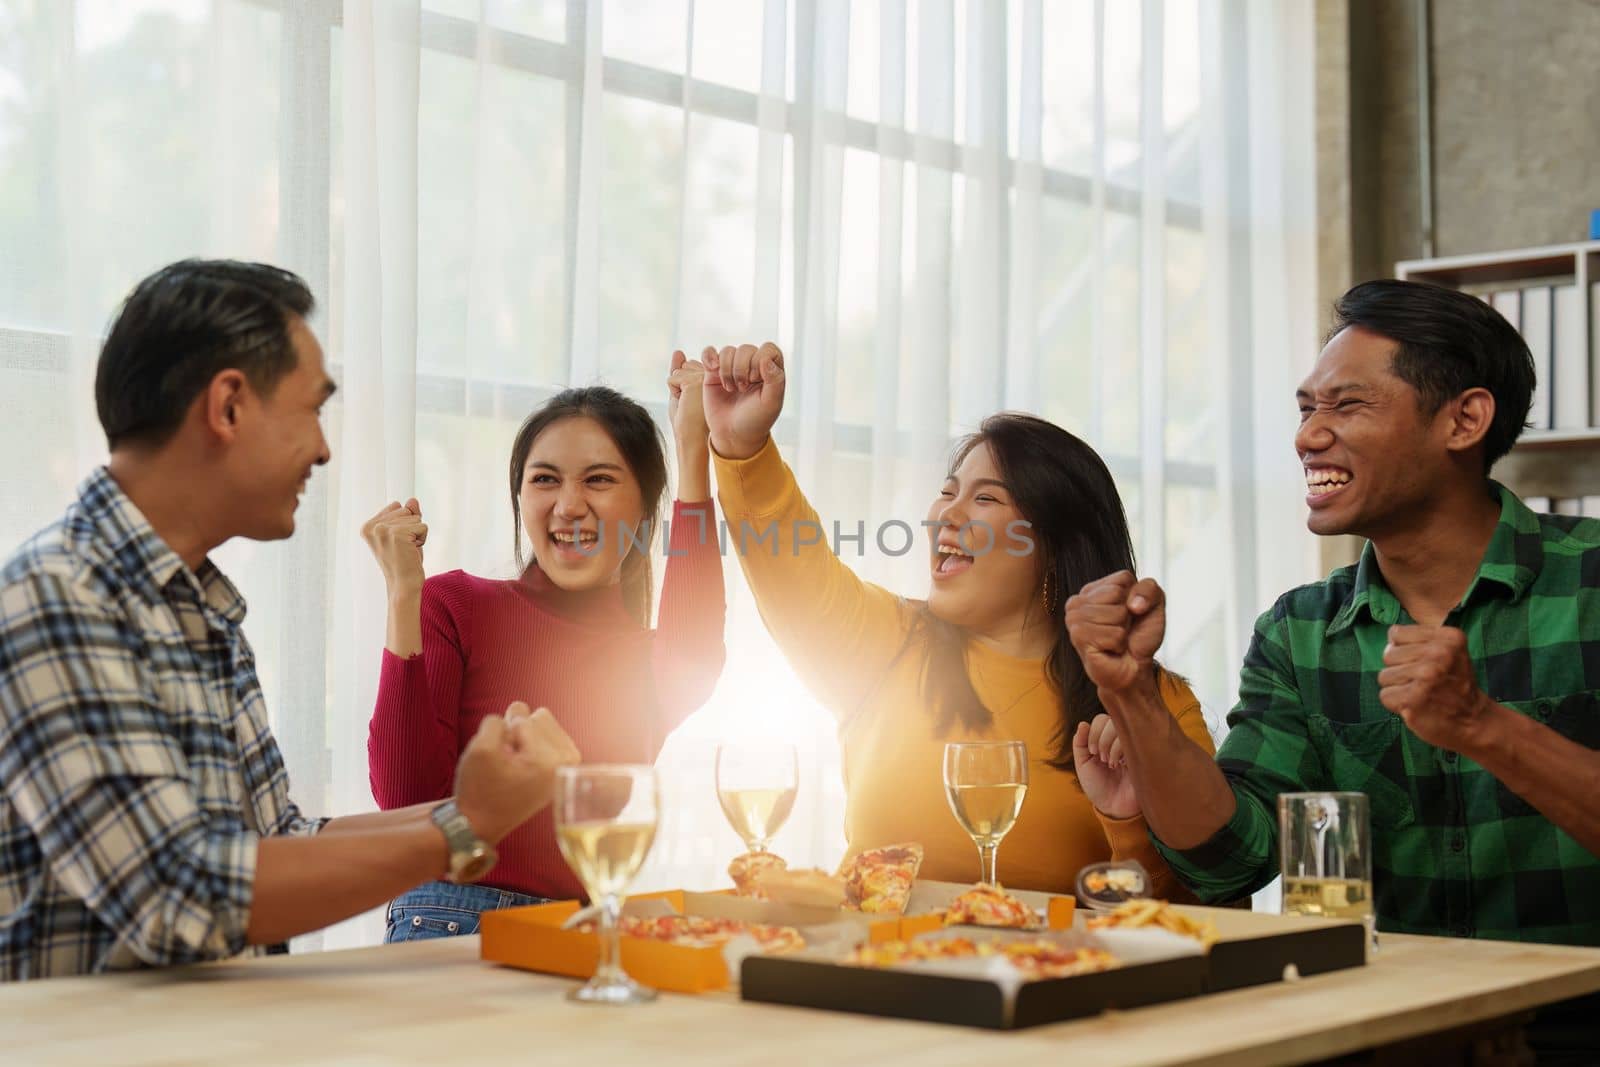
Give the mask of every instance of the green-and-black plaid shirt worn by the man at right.
M 1493 491 L 1499 525 L 1445 622 L 1466 630 L 1485 693 L 1600 749 L 1600 522 Z M 1600 857 L 1378 702 L 1387 630 L 1410 622 L 1371 544 L 1278 598 L 1216 753 L 1238 809 L 1210 841 L 1162 853 L 1203 899 L 1238 897 L 1278 873 L 1278 793 L 1363 792 L 1379 929 L 1600 945 Z

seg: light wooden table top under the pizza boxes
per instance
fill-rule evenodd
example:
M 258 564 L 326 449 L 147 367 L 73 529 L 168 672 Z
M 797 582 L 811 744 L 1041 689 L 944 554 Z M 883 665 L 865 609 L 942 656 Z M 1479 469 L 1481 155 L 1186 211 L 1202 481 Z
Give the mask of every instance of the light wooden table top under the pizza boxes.
M 0 987 L 16 1065 L 1290 1064 L 1600 990 L 1600 949 L 1384 936 L 1366 968 L 997 1033 L 573 982 L 478 960 L 477 937 Z

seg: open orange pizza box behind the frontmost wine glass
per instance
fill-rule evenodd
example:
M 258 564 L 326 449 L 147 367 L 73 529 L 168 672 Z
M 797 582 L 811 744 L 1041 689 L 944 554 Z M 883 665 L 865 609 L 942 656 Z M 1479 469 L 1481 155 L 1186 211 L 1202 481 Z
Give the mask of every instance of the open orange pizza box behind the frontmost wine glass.
M 491 963 L 589 977 L 600 963 L 600 937 L 595 933 L 562 929 L 581 904 L 555 901 L 528 907 L 501 909 L 483 913 L 478 955 Z M 626 915 L 702 915 L 706 918 L 738 918 L 749 923 L 795 926 L 814 945 L 854 945 L 859 941 L 891 941 L 899 936 L 899 917 L 877 917 L 837 909 L 795 907 L 749 901 L 726 893 L 642 893 L 622 907 Z M 757 947 L 752 941 L 734 939 L 726 945 L 677 945 L 650 937 L 621 939 L 622 969 L 635 981 L 677 993 L 704 993 L 726 989 L 739 974 L 739 961 Z

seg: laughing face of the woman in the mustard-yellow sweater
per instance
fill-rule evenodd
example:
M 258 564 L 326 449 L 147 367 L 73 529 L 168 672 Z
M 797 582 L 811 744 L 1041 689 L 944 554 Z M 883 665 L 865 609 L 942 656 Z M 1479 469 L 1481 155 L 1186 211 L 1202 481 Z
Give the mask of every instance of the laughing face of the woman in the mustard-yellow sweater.
M 978 632 L 1019 625 L 1038 600 L 1040 560 L 1006 528 L 1024 518 L 987 443 L 950 472 L 928 509 L 928 609 Z M 971 523 L 971 526 L 968 526 Z M 966 526 L 966 530 L 963 530 Z

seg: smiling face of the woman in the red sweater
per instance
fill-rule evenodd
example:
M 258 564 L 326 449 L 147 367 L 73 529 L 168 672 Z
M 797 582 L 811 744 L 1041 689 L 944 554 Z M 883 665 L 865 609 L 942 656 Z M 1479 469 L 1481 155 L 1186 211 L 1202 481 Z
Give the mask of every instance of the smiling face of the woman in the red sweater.
M 566 590 L 619 581 L 634 550 L 627 531 L 643 537 L 638 478 L 605 427 L 584 416 L 552 422 L 533 440 L 518 502 L 534 561 Z

